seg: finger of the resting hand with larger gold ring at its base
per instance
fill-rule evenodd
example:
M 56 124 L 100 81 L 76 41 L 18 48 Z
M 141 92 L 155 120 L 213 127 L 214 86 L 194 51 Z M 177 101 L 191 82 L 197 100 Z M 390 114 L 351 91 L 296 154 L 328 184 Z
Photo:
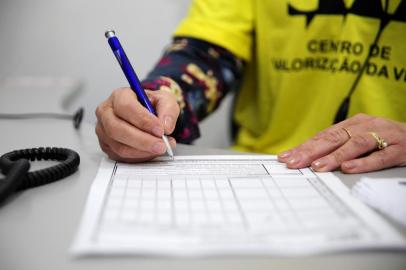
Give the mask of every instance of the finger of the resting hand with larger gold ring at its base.
M 343 146 L 332 153 L 312 162 L 315 171 L 327 172 L 341 166 L 344 161 L 352 160 L 376 149 L 376 140 L 371 134 L 364 132 L 351 137 Z

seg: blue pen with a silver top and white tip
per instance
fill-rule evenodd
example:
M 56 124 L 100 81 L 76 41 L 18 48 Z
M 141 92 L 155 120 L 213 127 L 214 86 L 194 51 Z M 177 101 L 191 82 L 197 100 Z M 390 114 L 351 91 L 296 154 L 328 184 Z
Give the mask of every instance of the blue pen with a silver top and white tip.
M 133 67 L 131 66 L 130 60 L 128 60 L 127 55 L 125 54 L 124 49 L 120 44 L 120 41 L 116 37 L 116 33 L 113 30 L 108 30 L 108 31 L 106 31 L 105 36 L 110 44 L 111 49 L 113 50 L 114 55 L 117 58 L 118 63 L 121 66 L 121 69 L 124 72 L 125 77 L 128 80 L 128 83 L 130 84 L 131 89 L 137 95 L 138 101 L 145 108 L 147 108 L 147 110 L 150 113 L 157 115 L 154 107 L 152 107 L 152 104 L 148 99 L 147 94 L 145 93 L 144 89 L 141 86 L 141 83 L 137 77 L 137 74 L 135 74 L 135 71 L 134 71 Z M 169 145 L 168 138 L 165 135 L 163 135 L 162 140 L 164 141 L 164 143 L 166 145 L 166 152 L 173 159 L 173 151 L 172 151 L 171 146 Z

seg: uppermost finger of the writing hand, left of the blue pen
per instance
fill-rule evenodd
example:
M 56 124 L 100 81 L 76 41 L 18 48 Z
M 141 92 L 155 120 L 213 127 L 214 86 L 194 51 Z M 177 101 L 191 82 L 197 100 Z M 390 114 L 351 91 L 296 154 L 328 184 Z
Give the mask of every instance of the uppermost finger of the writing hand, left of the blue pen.
M 138 101 L 130 88 L 117 89 L 112 94 L 112 107 L 117 117 L 140 130 L 161 137 L 164 128 L 159 119 Z

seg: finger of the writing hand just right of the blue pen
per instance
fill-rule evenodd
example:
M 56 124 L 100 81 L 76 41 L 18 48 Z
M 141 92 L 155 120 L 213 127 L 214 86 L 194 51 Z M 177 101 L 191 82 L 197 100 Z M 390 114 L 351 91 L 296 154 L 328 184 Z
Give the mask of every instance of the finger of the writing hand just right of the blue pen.
M 148 91 L 158 118 L 164 125 L 165 134 L 171 134 L 176 126 L 180 108 L 175 95 L 167 91 Z

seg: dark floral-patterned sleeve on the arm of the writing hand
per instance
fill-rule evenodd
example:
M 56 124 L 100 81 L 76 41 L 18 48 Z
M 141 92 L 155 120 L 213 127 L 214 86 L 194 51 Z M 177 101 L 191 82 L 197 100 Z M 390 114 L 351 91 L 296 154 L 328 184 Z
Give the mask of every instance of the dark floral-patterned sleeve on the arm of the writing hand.
M 172 136 L 190 144 L 200 137 L 199 121 L 213 112 L 229 91 L 239 87 L 243 68 L 242 60 L 221 47 L 179 37 L 142 85 L 176 95 L 181 113 Z

